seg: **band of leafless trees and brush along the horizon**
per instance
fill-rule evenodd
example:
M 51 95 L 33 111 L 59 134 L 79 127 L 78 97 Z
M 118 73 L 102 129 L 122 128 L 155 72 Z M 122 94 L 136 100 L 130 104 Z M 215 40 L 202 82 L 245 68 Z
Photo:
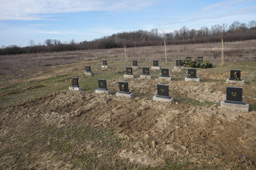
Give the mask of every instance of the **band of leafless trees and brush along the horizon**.
M 232 24 L 215 24 L 201 29 L 189 29 L 183 26 L 175 29 L 173 32 L 165 32 L 161 27 L 147 30 L 137 30 L 130 32 L 119 32 L 111 36 L 103 36 L 92 41 L 75 42 L 72 39 L 69 42 L 61 43 L 60 40 L 47 39 L 43 44 L 35 44 L 34 40 L 29 41 L 29 46 L 19 47 L 17 45 L 2 46 L 0 55 L 24 54 L 38 52 L 59 52 L 70 50 L 88 50 L 88 49 L 108 49 L 139 46 L 167 45 L 175 44 L 192 44 L 208 43 L 221 41 L 236 41 L 256 39 L 256 21 L 251 20 L 249 23 L 234 21 Z

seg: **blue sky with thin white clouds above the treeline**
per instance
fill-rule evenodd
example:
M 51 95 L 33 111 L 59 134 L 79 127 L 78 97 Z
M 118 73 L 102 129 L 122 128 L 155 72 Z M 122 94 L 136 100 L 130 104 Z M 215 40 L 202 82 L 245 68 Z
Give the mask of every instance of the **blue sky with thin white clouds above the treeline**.
M 256 20 L 256 1 L 9 0 L 0 4 L 0 46 L 46 39 L 90 41 L 138 29 L 172 32 Z M 228 26 L 229 26 L 228 25 Z

